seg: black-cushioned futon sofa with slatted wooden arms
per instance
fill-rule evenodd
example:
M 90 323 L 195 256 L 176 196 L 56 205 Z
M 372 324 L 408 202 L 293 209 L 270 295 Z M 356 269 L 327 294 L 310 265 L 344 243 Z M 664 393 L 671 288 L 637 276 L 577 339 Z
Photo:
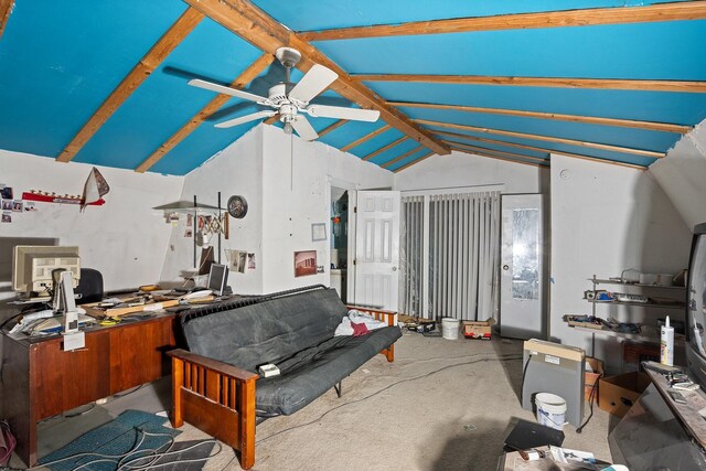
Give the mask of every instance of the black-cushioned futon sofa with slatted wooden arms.
M 395 313 L 355 308 L 387 327 L 334 336 L 349 308 L 323 286 L 246 298 L 181 317 L 186 350 L 172 357 L 172 425 L 185 421 L 232 446 L 243 469 L 255 463 L 255 426 L 290 415 L 383 353 L 394 361 Z M 280 374 L 260 377 L 274 364 Z

